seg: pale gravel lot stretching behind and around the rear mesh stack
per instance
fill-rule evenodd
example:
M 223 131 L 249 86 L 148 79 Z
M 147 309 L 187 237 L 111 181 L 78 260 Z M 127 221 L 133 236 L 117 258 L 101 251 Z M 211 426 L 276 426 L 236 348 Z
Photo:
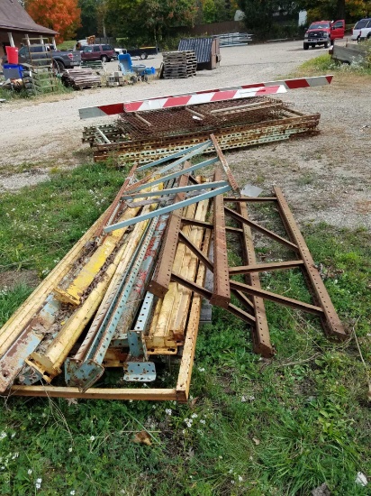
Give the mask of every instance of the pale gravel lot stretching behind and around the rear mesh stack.
M 149 84 L 83 90 L 41 101 L 0 106 L 0 192 L 48 179 L 52 167 L 70 167 L 90 157 L 81 143 L 84 125 L 112 118 L 80 121 L 78 109 L 145 96 L 161 96 L 284 77 L 325 50 L 303 51 L 302 41 L 222 49 L 222 65 L 195 78 L 154 79 Z M 159 67 L 161 55 L 145 60 Z M 116 69 L 116 62 L 108 64 Z M 281 186 L 299 222 L 371 229 L 371 78 L 334 78 L 329 87 L 299 89 L 283 96 L 306 112 L 321 113 L 321 133 L 245 151 L 228 161 L 240 184 L 266 192 Z M 366 127 L 368 126 L 368 127 Z M 17 173 L 24 170 L 22 173 Z

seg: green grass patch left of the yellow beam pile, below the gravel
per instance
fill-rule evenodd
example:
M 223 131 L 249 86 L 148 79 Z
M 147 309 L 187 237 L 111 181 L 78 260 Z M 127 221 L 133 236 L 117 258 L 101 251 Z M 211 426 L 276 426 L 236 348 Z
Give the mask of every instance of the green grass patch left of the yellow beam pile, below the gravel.
M 0 271 L 33 269 L 46 274 L 104 212 L 124 172 L 89 164 L 56 172 L 50 181 L 0 204 Z

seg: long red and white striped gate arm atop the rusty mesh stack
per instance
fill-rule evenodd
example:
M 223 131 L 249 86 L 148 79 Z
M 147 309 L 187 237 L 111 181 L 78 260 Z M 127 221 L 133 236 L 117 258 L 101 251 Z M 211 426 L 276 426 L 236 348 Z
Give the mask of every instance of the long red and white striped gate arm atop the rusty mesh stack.
M 171 108 L 176 106 L 199 105 L 210 102 L 246 98 L 252 96 L 276 95 L 285 93 L 287 89 L 302 87 L 319 87 L 330 85 L 333 76 L 316 76 L 313 78 L 283 79 L 280 81 L 268 81 L 265 83 L 253 83 L 238 87 L 222 87 L 217 89 L 205 89 L 193 93 L 180 95 L 156 96 L 146 100 L 110 104 L 105 106 L 89 106 L 79 109 L 81 119 L 92 117 L 104 117 L 106 115 L 117 115 L 122 112 L 142 112 Z

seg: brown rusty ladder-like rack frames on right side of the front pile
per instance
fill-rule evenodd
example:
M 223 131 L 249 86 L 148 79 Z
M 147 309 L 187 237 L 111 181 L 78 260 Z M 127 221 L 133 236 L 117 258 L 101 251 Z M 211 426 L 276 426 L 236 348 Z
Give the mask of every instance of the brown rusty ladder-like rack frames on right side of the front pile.
M 208 299 L 214 305 L 225 308 L 232 314 L 240 317 L 252 326 L 252 339 L 255 353 L 262 354 L 265 357 L 272 356 L 275 351 L 270 343 L 269 330 L 267 326 L 266 310 L 264 300 L 271 300 L 281 305 L 296 308 L 304 312 L 309 312 L 321 318 L 321 325 L 329 336 L 335 336 L 339 339 L 346 339 L 347 334 L 342 326 L 335 308 L 330 300 L 330 296 L 325 288 L 321 276 L 317 271 L 312 260 L 312 255 L 300 233 L 298 226 L 294 221 L 285 197 L 280 188 L 275 188 L 274 197 L 215 197 L 214 198 L 214 219 L 213 224 L 197 222 L 194 219 L 182 217 L 182 223 L 187 225 L 204 226 L 213 231 L 214 262 L 193 246 L 185 238 L 174 230 L 171 234 L 171 243 L 164 244 L 164 250 L 160 253 L 158 261 L 158 271 L 149 284 L 149 290 L 156 296 L 163 298 L 167 294 L 169 281 L 175 281 L 178 284 L 191 289 Z M 221 207 L 221 202 L 237 203 L 238 211 L 231 210 L 229 207 Z M 288 239 L 278 235 L 266 227 L 249 219 L 247 205 L 249 203 L 270 202 L 277 207 L 279 214 L 285 226 Z M 240 223 L 240 228 L 229 228 L 224 223 L 224 215 L 231 216 L 235 221 Z M 228 267 L 226 262 L 226 231 L 239 233 L 242 237 L 243 252 L 246 265 L 240 267 Z M 295 253 L 294 260 L 285 262 L 257 263 L 254 244 L 252 241 L 251 230 L 257 230 L 260 234 L 284 244 L 286 248 Z M 195 284 L 191 280 L 186 280 L 179 274 L 171 270 L 170 250 L 174 251 L 176 238 L 179 243 L 185 245 L 199 258 L 199 262 L 213 271 L 214 287 L 213 291 Z M 307 282 L 308 289 L 312 295 L 313 303 L 309 304 L 296 299 L 290 299 L 285 296 L 261 289 L 258 273 L 263 271 L 282 271 L 299 268 L 303 271 L 304 279 Z M 246 282 L 242 283 L 232 280 L 231 277 L 236 274 L 245 274 Z M 231 294 L 233 294 L 244 306 L 243 309 L 231 304 Z

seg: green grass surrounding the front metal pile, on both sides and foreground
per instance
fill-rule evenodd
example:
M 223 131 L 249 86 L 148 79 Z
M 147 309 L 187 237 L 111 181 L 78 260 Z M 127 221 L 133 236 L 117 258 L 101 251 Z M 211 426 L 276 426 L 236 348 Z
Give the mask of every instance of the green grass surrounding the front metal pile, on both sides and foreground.
M 3 270 L 49 271 L 109 205 L 122 179 L 122 172 L 95 164 L 2 197 Z M 307 225 L 303 234 L 369 367 L 371 236 L 325 224 Z M 238 253 L 231 258 L 239 262 Z M 265 275 L 262 284 L 309 300 L 299 271 Z M 29 293 L 25 287 L 0 293 L 0 326 Z M 326 482 L 332 495 L 366 496 L 369 489 L 355 479 L 357 472 L 371 475 L 371 415 L 354 340 L 332 342 L 315 317 L 273 303 L 267 317 L 277 351 L 271 361 L 252 353 L 240 320 L 214 310 L 213 325 L 197 341 L 186 405 L 4 400 L 0 494 L 309 496 Z M 163 379 L 175 381 L 172 374 Z M 151 445 L 133 443 L 141 430 Z

